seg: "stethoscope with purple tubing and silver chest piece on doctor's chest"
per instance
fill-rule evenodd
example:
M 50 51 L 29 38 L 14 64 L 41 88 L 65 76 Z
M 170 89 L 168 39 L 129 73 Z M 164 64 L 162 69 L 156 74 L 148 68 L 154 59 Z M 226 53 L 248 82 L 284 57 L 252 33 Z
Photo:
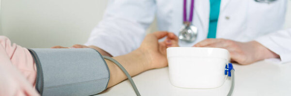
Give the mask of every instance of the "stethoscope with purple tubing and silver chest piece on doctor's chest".
M 271 3 L 276 0 L 255 0 L 257 2 L 263 2 L 263 3 Z M 181 41 L 186 42 L 193 42 L 197 38 L 198 29 L 194 25 L 192 25 L 193 21 L 193 12 L 194 12 L 194 0 L 191 0 L 191 9 L 190 9 L 190 16 L 189 20 L 187 20 L 187 1 L 184 0 L 183 3 L 183 26 L 180 29 L 180 32 L 178 34 L 178 38 Z

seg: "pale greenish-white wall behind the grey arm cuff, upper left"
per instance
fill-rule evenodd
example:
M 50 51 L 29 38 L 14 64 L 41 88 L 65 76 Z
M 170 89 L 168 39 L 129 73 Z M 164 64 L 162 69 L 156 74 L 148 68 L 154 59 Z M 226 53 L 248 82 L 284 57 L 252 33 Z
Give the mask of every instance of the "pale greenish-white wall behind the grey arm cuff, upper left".
M 1 0 L 2 35 L 28 48 L 88 40 L 107 0 Z

